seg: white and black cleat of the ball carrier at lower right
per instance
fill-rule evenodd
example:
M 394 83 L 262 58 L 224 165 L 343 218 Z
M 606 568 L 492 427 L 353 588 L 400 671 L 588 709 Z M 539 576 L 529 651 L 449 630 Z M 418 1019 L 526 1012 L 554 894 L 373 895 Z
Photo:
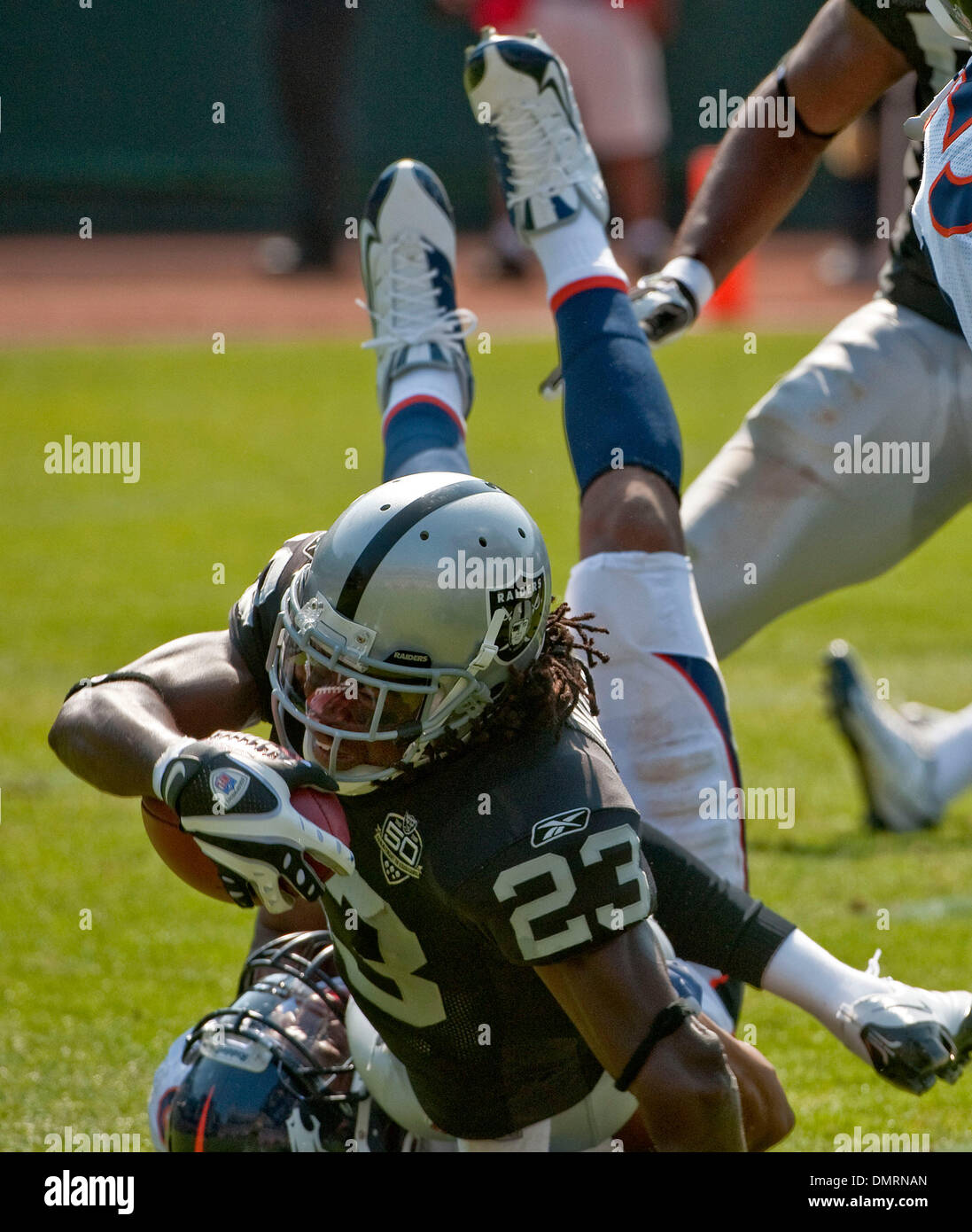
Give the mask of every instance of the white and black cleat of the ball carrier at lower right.
M 957 1082 L 972 1056 L 972 993 L 929 992 L 897 979 L 882 984 L 882 992 L 838 1010 L 846 1046 L 914 1095 L 938 1078 Z

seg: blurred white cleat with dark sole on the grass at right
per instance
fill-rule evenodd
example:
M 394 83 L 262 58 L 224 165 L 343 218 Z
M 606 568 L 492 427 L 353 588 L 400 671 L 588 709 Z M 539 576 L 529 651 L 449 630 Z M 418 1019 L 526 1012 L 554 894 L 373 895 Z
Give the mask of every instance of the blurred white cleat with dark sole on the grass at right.
M 830 712 L 857 761 L 867 822 L 878 830 L 917 830 L 936 825 L 942 804 L 934 790 L 934 759 L 925 728 L 926 708 L 899 713 L 878 701 L 846 642 L 824 657 Z

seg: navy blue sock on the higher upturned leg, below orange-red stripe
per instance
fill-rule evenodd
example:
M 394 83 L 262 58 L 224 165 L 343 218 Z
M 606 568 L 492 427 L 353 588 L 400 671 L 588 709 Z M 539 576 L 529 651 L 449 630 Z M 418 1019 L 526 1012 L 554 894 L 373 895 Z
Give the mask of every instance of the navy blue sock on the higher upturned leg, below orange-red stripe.
M 681 434 L 627 294 L 593 287 L 558 298 L 551 307 L 561 341 L 564 431 L 581 494 L 605 471 L 642 466 L 678 495 Z

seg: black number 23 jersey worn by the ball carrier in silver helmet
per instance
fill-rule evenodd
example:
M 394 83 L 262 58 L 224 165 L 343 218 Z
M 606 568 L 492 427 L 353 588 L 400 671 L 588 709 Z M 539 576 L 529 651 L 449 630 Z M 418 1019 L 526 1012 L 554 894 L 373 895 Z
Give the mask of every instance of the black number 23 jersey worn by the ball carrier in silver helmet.
M 314 536 L 277 552 L 230 612 L 260 683 L 281 599 Z M 345 979 L 442 1130 L 503 1137 L 581 1100 L 602 1069 L 532 970 L 650 913 L 638 813 L 581 711 L 558 740 L 480 745 L 342 797 L 357 861 L 328 883 Z

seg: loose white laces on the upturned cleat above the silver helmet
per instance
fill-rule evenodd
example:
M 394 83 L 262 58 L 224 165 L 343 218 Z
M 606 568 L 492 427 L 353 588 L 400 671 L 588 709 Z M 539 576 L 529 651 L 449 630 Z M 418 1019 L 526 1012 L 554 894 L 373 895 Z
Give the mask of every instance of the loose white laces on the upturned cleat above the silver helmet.
M 426 260 L 432 251 L 432 245 L 420 237 L 402 237 L 391 245 L 389 272 L 384 280 L 389 307 L 377 312 L 363 299 L 355 301 L 381 330 L 361 344 L 363 349 L 383 351 L 437 342 L 447 351 L 462 351 L 463 340 L 476 329 L 479 318 L 468 308 L 442 312 L 436 297 L 435 270 Z

